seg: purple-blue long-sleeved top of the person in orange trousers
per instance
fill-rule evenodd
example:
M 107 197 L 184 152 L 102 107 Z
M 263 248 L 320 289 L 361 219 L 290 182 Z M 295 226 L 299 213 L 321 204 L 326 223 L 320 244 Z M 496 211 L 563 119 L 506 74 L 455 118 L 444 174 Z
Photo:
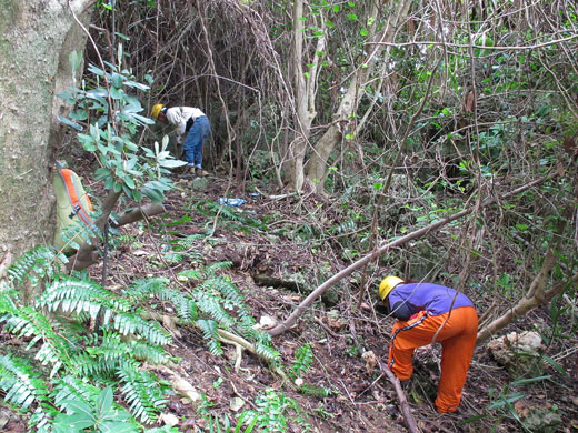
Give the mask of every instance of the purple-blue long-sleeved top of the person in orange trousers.
M 440 315 L 447 313 L 450 308 L 474 306 L 464 293 L 431 283 L 401 283 L 389 292 L 388 298 L 391 315 L 403 321 L 420 311 Z

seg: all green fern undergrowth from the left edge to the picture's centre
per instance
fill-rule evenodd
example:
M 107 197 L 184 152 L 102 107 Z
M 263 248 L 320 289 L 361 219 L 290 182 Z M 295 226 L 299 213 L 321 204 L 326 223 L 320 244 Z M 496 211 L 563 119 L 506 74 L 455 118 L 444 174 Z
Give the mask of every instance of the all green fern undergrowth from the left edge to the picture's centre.
M 230 263 L 181 272 L 187 288 L 146 279 L 113 292 L 86 274 L 61 273 L 66 260 L 51 248 L 37 248 L 0 282 L 0 325 L 21 342 L 21 350 L 4 346 L 0 356 L 0 390 L 7 403 L 31 414 L 29 431 L 62 425 L 70 432 L 109 431 L 99 430 L 104 424 L 127 432 L 171 431 L 150 429 L 171 393 L 147 369 L 171 361 L 166 346 L 172 339 L 153 308 L 198 326 L 213 354 L 222 353 L 223 329 L 242 335 L 271 364 L 279 361 L 269 334 L 253 329 L 240 292 L 219 274 Z M 40 294 L 27 302 L 29 293 Z

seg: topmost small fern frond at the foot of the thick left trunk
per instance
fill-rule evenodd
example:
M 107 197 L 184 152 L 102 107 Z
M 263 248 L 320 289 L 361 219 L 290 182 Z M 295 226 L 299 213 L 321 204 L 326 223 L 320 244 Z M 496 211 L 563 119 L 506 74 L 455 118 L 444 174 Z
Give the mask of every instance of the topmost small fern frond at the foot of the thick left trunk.
M 66 256 L 54 248 L 37 246 L 12 263 L 8 269 L 9 281 L 11 284 L 22 284 L 28 280 L 36 285 L 44 276 L 52 278 L 66 261 Z

